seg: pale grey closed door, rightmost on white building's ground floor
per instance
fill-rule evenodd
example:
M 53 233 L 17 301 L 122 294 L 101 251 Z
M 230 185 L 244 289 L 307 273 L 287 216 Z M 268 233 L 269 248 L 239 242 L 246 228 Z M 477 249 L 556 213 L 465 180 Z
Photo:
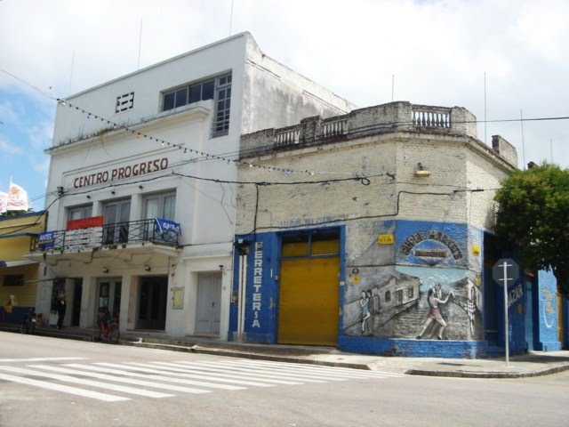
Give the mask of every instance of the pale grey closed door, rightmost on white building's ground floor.
M 220 334 L 221 273 L 197 278 L 196 334 Z

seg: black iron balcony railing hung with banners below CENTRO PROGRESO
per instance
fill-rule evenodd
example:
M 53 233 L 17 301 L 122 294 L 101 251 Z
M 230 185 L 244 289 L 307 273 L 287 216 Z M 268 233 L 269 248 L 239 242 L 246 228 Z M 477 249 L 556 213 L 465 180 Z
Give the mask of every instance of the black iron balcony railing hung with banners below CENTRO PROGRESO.
M 30 252 L 76 252 L 105 246 L 121 246 L 138 243 L 179 246 L 180 228 L 164 230 L 158 219 L 115 222 L 99 227 L 79 230 L 57 230 L 32 238 Z M 174 224 L 174 222 L 168 222 Z

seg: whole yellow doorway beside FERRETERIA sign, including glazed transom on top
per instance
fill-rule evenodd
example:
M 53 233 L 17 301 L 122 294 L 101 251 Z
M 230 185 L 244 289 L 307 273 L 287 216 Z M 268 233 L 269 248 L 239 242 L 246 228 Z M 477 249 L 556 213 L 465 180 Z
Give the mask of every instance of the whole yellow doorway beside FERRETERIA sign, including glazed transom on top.
M 340 310 L 337 234 L 283 239 L 278 343 L 336 344 Z

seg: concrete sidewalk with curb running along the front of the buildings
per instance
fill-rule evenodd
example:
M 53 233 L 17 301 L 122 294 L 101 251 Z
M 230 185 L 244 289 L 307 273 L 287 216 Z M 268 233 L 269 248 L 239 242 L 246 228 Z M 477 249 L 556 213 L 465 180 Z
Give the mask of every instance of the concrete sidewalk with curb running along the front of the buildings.
M 18 326 L 0 324 L 0 331 L 18 332 Z M 37 335 L 91 341 L 91 329 L 44 326 Z M 463 378 L 523 378 L 569 370 L 569 351 L 535 351 L 513 356 L 509 366 L 501 359 L 400 358 L 346 353 L 333 347 L 265 345 L 221 342 L 201 337 L 168 338 L 150 331 L 122 333 L 119 343 L 153 349 L 188 351 L 246 359 L 277 360 L 333 367 L 350 367 L 406 375 L 453 376 Z

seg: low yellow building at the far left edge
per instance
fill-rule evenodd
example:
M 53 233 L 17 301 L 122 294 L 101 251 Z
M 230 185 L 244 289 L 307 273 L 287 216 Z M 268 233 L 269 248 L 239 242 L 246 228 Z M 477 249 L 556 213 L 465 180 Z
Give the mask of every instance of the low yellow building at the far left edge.
M 45 231 L 45 213 L 0 217 L 0 322 L 20 323 L 44 292 L 38 282 L 39 262 L 28 260 L 34 239 Z

